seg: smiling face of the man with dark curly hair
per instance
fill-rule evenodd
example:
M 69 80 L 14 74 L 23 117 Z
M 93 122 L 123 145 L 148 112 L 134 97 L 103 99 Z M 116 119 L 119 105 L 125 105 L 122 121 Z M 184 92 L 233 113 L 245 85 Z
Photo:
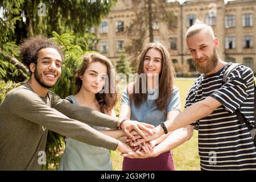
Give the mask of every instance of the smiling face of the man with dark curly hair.
M 38 52 L 37 63 L 30 64 L 35 80 L 43 88 L 52 88 L 61 75 L 61 56 L 54 48 L 43 48 Z

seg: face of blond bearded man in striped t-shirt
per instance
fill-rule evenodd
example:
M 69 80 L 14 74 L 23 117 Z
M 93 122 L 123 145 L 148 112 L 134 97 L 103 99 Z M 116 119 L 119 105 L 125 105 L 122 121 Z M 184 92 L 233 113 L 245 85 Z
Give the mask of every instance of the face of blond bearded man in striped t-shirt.
M 212 36 L 202 30 L 186 40 L 197 71 L 204 74 L 212 72 L 218 62 L 216 51 L 218 39 L 213 39 Z

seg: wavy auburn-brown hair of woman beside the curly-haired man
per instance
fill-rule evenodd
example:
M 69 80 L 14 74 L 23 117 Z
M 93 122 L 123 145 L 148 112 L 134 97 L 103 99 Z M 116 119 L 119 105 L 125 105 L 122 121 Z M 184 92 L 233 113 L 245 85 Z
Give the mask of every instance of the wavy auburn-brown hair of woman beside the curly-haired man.
M 108 89 L 108 92 L 96 93 L 96 100 L 100 105 L 100 110 L 102 113 L 111 113 L 112 108 L 117 103 L 118 97 L 116 92 L 116 83 L 115 83 L 115 71 L 111 61 L 99 54 L 99 53 L 86 53 L 83 56 L 81 67 L 76 71 L 75 74 L 75 85 L 76 93 L 78 93 L 82 86 L 82 80 L 80 76 L 84 75 L 85 70 L 89 67 L 91 63 L 100 62 L 107 67 L 108 79 L 105 82 L 104 88 Z M 114 91 L 114 92 L 113 92 Z

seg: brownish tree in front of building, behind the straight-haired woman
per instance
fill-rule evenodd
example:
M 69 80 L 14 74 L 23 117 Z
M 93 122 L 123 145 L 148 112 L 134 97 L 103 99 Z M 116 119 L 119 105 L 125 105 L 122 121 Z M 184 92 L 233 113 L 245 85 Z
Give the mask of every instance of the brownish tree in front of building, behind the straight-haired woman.
M 144 43 L 154 42 L 154 30 L 158 30 L 159 23 L 166 22 L 172 29 L 176 28 L 177 19 L 167 0 L 131 0 L 131 11 L 135 18 L 126 29 L 131 43 L 125 50 L 131 56 L 131 65 L 135 68 L 135 59 Z

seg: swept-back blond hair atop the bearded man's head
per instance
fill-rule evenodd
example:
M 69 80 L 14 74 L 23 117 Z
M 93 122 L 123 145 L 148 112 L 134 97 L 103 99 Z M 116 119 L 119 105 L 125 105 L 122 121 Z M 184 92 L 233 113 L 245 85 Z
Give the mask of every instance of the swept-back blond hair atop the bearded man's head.
M 201 31 L 204 31 L 205 33 L 212 36 L 212 39 L 215 38 L 212 27 L 197 19 L 195 24 L 188 28 L 187 34 L 185 35 L 185 39 L 190 38 L 191 36 L 196 35 Z

